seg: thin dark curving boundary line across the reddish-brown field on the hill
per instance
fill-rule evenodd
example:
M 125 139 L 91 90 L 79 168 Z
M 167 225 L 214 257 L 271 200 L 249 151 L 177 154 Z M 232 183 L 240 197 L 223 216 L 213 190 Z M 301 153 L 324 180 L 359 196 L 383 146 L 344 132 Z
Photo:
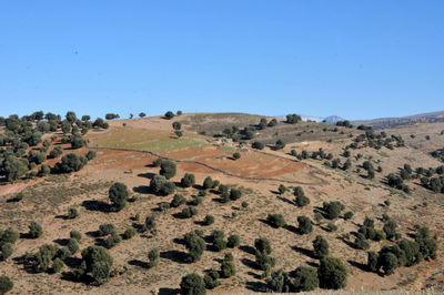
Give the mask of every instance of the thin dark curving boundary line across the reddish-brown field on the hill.
M 281 179 L 274 179 L 274 177 L 249 177 L 249 176 L 242 176 L 242 175 L 233 174 L 231 172 L 228 172 L 228 171 L 224 171 L 224 170 L 221 170 L 221 169 L 218 169 L 218 167 L 213 167 L 213 166 L 211 166 L 211 165 L 209 165 L 206 163 L 202 163 L 202 162 L 199 162 L 199 161 L 176 160 L 176 159 L 168 157 L 168 156 L 164 156 L 164 155 L 151 152 L 151 151 L 140 151 L 140 150 L 119 149 L 119 148 L 101 148 L 101 146 L 94 146 L 94 148 L 89 148 L 89 149 L 91 149 L 91 150 L 112 150 L 112 151 L 124 151 L 124 152 L 135 152 L 135 153 L 148 153 L 148 154 L 158 156 L 160 159 L 170 160 L 170 161 L 173 161 L 173 162 L 176 162 L 176 163 L 191 163 L 191 164 L 202 165 L 204 167 L 208 167 L 208 169 L 213 170 L 215 172 L 222 173 L 224 175 L 232 176 L 232 177 L 238 177 L 238 179 L 246 180 L 246 181 L 275 181 L 275 182 L 283 182 L 283 183 L 290 183 L 290 184 L 301 184 L 301 185 L 326 185 L 326 184 L 329 184 L 329 182 L 326 180 L 321 179 L 320 176 L 317 176 L 314 173 L 314 170 L 317 170 L 317 169 L 315 169 L 313 166 L 310 166 L 312 169 L 312 171 L 310 171 L 310 175 L 313 179 L 317 180 L 317 181 L 315 181 L 315 182 L 300 182 L 300 181 L 287 181 L 287 180 L 281 180 Z M 279 156 L 279 155 L 273 155 L 273 154 L 268 154 L 268 155 L 280 157 L 280 159 L 283 159 L 283 160 L 286 160 L 286 161 L 297 162 L 295 160 L 286 159 L 286 157 Z

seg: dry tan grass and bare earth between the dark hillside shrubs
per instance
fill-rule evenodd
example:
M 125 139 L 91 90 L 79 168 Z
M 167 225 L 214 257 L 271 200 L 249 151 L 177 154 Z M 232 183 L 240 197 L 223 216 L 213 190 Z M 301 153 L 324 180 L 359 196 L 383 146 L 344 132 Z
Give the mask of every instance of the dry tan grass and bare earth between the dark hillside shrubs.
M 184 116 L 185 119 L 185 116 Z M 256 118 L 255 118 L 256 119 Z M 165 145 L 155 145 L 155 140 L 169 144 L 170 131 L 168 128 L 171 121 L 158 120 L 157 129 L 151 130 L 145 126 L 130 124 L 120 128 L 121 122 L 113 122 L 110 131 L 94 133 L 90 135 L 91 143 L 102 144 L 128 144 L 134 149 L 167 149 Z M 231 119 L 230 119 L 231 120 Z M 150 122 L 150 119 L 138 121 L 133 124 Z M 169 124 L 162 126 L 161 124 Z M 310 123 L 311 124 L 311 123 Z M 159 129 L 160 128 L 160 129 Z M 287 128 L 287 126 L 285 126 Z M 296 128 L 296 126 L 292 126 Z M 305 129 L 306 126 L 299 126 Z M 405 134 L 415 132 L 416 126 L 403 130 Z M 437 129 L 440 126 L 436 126 Z M 139 133 L 135 134 L 138 130 Z M 145 133 L 140 133 L 145 132 Z M 124 132 L 125 131 L 125 132 Z M 128 132 L 131 131 L 131 132 Z M 289 131 L 290 132 L 290 131 Z M 293 132 L 293 131 L 291 131 Z M 82 283 L 75 283 L 61 278 L 60 274 L 31 274 L 16 264 L 13 260 L 0 263 L 0 273 L 8 273 L 14 282 L 14 293 L 90 293 L 90 294 L 147 294 L 150 292 L 171 292 L 179 287 L 181 277 L 191 272 L 202 274 L 205 269 L 219 269 L 219 262 L 226 252 L 234 256 L 236 265 L 236 276 L 229 279 L 221 279 L 222 285 L 215 289 L 216 293 L 246 293 L 264 291 L 264 281 L 259 276 L 262 272 L 252 267 L 254 255 L 250 247 L 259 236 L 268 237 L 272 243 L 272 256 L 276 257 L 276 269 L 284 268 L 292 271 L 300 265 L 315 265 L 316 260 L 311 257 L 312 241 L 317 234 L 323 235 L 330 243 L 333 256 L 342 258 L 349 268 L 347 292 L 416 292 L 423 287 L 433 286 L 440 289 L 440 282 L 444 281 L 443 275 L 443 248 L 442 234 L 444 232 L 444 212 L 442 204 L 443 195 L 434 194 L 418 186 L 415 181 L 410 184 L 413 187 L 411 195 L 387 187 L 382 183 L 383 176 L 390 172 L 396 172 L 397 167 L 404 163 L 411 163 L 413 167 L 435 166 L 440 164 L 435 159 L 427 154 L 416 142 L 406 139 L 407 148 L 395 149 L 393 151 L 382 149 L 362 149 L 352 152 L 352 169 L 350 171 L 332 170 L 323 165 L 321 161 L 304 160 L 303 163 L 295 163 L 286 153 L 291 149 L 301 151 L 317 150 L 323 148 L 325 152 L 332 152 L 335 157 L 342 153 L 342 149 L 350 142 L 346 134 L 331 143 L 324 141 L 321 134 L 322 128 L 310 133 L 313 138 L 304 141 L 294 141 L 287 144 L 284 151 L 271 151 L 265 149 L 264 153 L 242 152 L 241 159 L 233 161 L 228 159 L 233 150 L 219 149 L 215 146 L 193 146 L 183 144 L 161 152 L 176 160 L 189 160 L 204 162 L 224 171 L 239 174 L 242 177 L 230 176 L 218 171 L 208 169 L 195 163 L 179 163 L 178 174 L 173 181 L 179 182 L 185 172 L 193 172 L 196 182 L 201 184 L 205 176 L 211 175 L 220 180 L 223 184 L 239 185 L 248 189 L 241 200 L 222 204 L 218 202 L 219 195 L 210 193 L 204 197 L 202 204 L 198 206 L 198 215 L 192 218 L 178 218 L 179 208 L 171 208 L 165 213 L 157 211 L 159 202 L 170 202 L 172 196 L 155 196 L 147 193 L 142 189 L 149 185 L 149 177 L 159 173 L 159 167 L 147 166 L 155 159 L 152 155 L 139 152 L 122 152 L 99 150 L 98 157 L 89 163 L 81 172 L 64 176 L 57 175 L 48 177 L 43 182 L 36 184 L 17 183 L 14 186 L 24 187 L 28 197 L 19 203 L 8 202 L 12 194 L 0 195 L 0 227 L 13 226 L 20 232 L 27 231 L 30 221 L 36 220 L 43 225 L 44 234 L 36 241 L 21 238 L 16 244 L 13 257 L 23 255 L 26 252 L 34 252 L 44 243 L 56 243 L 58 238 L 67 238 L 71 230 L 82 232 L 83 238 L 81 247 L 94 244 L 95 240 L 85 233 L 97 231 L 101 223 L 113 223 L 119 233 L 132 226 L 134 223 L 131 217 L 140 214 L 141 223 L 148 214 L 155 214 L 158 221 L 158 234 L 139 234 L 129 241 L 111 250 L 114 257 L 114 266 L 119 269 L 127 267 L 128 271 L 118 277 L 113 277 L 109 283 L 101 287 L 93 287 Z M 350 131 L 355 132 L 355 131 Z M 391 131 L 392 132 L 392 131 Z M 418 132 L 423 132 L 418 128 Z M 400 132 L 401 133 L 401 132 Z M 141 135 L 142 134 L 142 135 Z M 309 133 L 307 133 L 309 134 Z M 332 134 L 335 135 L 335 134 Z M 201 136 L 189 133 L 191 142 L 200 142 Z M 317 136 L 317 138 L 316 138 Z M 405 138 L 405 136 L 404 136 Z M 150 140 L 152 142 L 150 142 Z M 432 136 L 432 143 L 440 145 L 441 141 Z M 151 144 L 151 145 L 150 145 Z M 417 143 L 418 144 L 418 143 Z M 131 149 L 132 149 L 131 148 Z M 236 146 L 232 146 L 238 149 Z M 362 153 L 361 160 L 354 156 Z M 278 157 L 280 156 L 280 157 Z M 341 157 L 344 161 L 344 157 Z M 366 159 L 372 159 L 375 164 L 383 167 L 383 173 L 376 173 L 374 180 L 363 177 L 363 173 L 356 173 L 356 167 Z M 291 192 L 284 195 L 275 194 L 280 181 L 272 180 L 249 180 L 245 176 L 261 177 L 282 177 L 289 181 L 302 182 L 305 184 L 286 184 L 294 187 L 301 185 L 305 194 L 311 199 L 311 204 L 303 208 L 296 207 L 293 203 L 294 196 Z M 319 180 L 322 180 L 320 182 Z M 91 202 L 108 202 L 108 187 L 112 182 L 123 182 L 133 194 L 140 195 L 140 200 L 129 203 L 120 213 L 107 213 L 97 211 L 93 206 L 88 206 Z M 198 189 L 179 189 L 188 200 L 198 194 Z M 391 205 L 384 206 L 383 202 L 390 200 Z M 325 230 L 327 221 L 314 225 L 314 231 L 307 235 L 299 235 L 294 227 L 297 226 L 296 218 L 306 215 L 314 220 L 317 207 L 325 201 L 341 201 L 345 204 L 345 211 L 355 213 L 351 221 L 339 218 L 335 221 L 339 230 L 329 232 Z M 426 201 L 427 206 L 423 203 Z M 249 207 L 242 208 L 241 203 L 248 202 Z M 87 205 L 85 205 L 87 204 Z M 75 220 L 65 220 L 63 216 L 69 207 L 77 207 L 80 216 Z M 287 226 L 273 228 L 263 222 L 269 213 L 283 214 Z M 380 217 L 382 214 L 392 216 L 400 226 L 403 236 L 413 232 L 414 225 L 427 225 L 434 234 L 437 234 L 440 248 L 438 258 L 433 262 L 422 263 L 414 267 L 403 267 L 389 277 L 379 276 L 362 269 L 362 264 L 366 262 L 366 253 L 350 247 L 340 236 L 354 232 L 365 216 L 375 218 L 376 227 L 382 227 Z M 215 223 L 210 226 L 202 226 L 200 222 L 206 214 L 215 217 Z M 183 245 L 176 243 L 183 234 L 200 228 L 205 234 L 213 230 L 223 230 L 225 235 L 236 233 L 241 236 L 241 247 L 225 250 L 221 253 L 205 251 L 202 260 L 194 264 L 182 263 L 176 254 L 184 253 Z M 377 251 L 391 242 L 371 242 L 371 250 Z M 141 263 L 148 262 L 147 254 L 153 247 L 161 251 L 161 260 L 157 267 L 141 267 Z M 175 255 L 174 255 L 175 254 Z M 12 257 L 12 258 L 13 258 Z M 69 271 L 68 268 L 65 271 Z M 44 284 L 43 284 L 44 282 Z

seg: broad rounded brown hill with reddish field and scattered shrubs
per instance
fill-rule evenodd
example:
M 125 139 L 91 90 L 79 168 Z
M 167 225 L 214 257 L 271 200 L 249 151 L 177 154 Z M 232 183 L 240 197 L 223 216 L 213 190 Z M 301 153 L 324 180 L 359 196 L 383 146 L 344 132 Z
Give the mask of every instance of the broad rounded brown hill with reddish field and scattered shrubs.
M 71 173 L 38 176 L 36 172 L 13 183 L 2 181 L 0 228 L 12 227 L 21 236 L 13 244 L 12 255 L 0 262 L 0 275 L 11 278 L 13 293 L 174 294 L 184 275 L 203 277 L 210 269 L 219 272 L 225 254 L 231 253 L 235 274 L 219 278 L 220 285 L 209 292 L 266 292 L 270 277 L 279 278 L 273 272 L 283 269 L 293 282 L 296 267 L 320 267 L 313 241 L 321 235 L 330 245 L 330 255 L 347 271 L 344 291 L 442 292 L 444 194 L 432 184 L 444 163 L 432 153 L 444 146 L 444 123 L 374 131 L 301 122 L 295 115 L 290 115 L 290 121 L 273 119 L 195 113 L 108 120 L 107 125 L 89 129 L 82 135 L 85 144 L 79 149 L 63 140 L 74 136 L 70 134 L 74 131 L 46 132 L 42 140 L 51 144 L 44 153 L 49 155 L 54 146 L 62 146 L 63 152 L 31 172 L 42 164 L 52 167 L 69 153 L 83 156 L 94 151 L 95 157 Z M 26 154 L 42 148 L 40 142 Z M 169 164 L 161 169 L 162 161 Z M 157 193 L 153 179 L 165 170 L 172 174 L 168 182 L 174 192 L 159 186 Z M 184 179 L 191 179 L 186 176 L 190 174 L 195 183 L 188 186 Z M 393 183 L 389 175 L 393 175 Z M 117 182 L 129 192 L 127 204 L 119 211 L 109 199 L 109 190 Z M 301 190 L 309 203 L 301 203 Z M 225 192 L 233 193 L 226 196 Z M 24 197 L 18 200 L 21 193 Z M 184 200 L 179 202 L 175 194 Z M 330 216 L 332 202 L 342 206 L 335 216 Z M 70 208 L 75 208 L 77 217 L 69 217 Z M 273 214 L 281 214 L 284 224 L 275 226 L 281 222 L 279 216 L 270 217 Z M 213 217 L 212 223 L 208 215 Z M 310 218 L 312 230 L 307 233 L 302 231 L 300 216 Z M 374 227 L 363 226 L 370 220 Z M 43 234 L 38 238 L 27 236 L 32 221 L 42 226 Z M 130 228 L 135 235 L 115 238 L 119 242 L 108 250 L 113 258 L 111 277 L 100 286 L 91 273 L 87 279 L 74 278 L 81 267 L 80 252 L 70 254 L 56 274 L 36 273 L 27 264 L 27 253 L 36 254 L 43 244 L 65 247 L 72 230 L 82 235 L 80 250 L 108 245 L 113 234 L 101 237 L 99 232 L 107 223 L 112 223 L 122 237 Z M 380 241 L 367 234 L 370 227 L 381 233 L 384 226 L 389 233 L 386 224 L 395 224 L 391 227 L 393 237 L 387 238 L 384 232 Z M 425 226 L 431 232 L 427 241 L 436 241 L 436 257 L 418 260 L 412 266 L 404 263 L 393 269 L 394 274 L 382 268 L 371 272 L 369 251 L 377 253 L 403 238 L 413 242 L 418 238 L 417 230 Z M 195 230 L 199 232 L 193 241 L 200 241 L 195 235 L 202 236 L 206 250 L 196 262 L 190 262 L 184 235 Z M 212 233 L 220 230 L 223 241 L 236 235 L 239 245 L 223 247 L 218 244 L 224 245 L 220 240 L 215 243 Z M 275 261 L 274 265 L 265 263 L 270 267 L 264 267 L 265 272 L 258 263 L 255 241 L 260 237 L 270 242 L 268 255 Z M 152 250 L 159 251 L 155 266 L 149 264 Z

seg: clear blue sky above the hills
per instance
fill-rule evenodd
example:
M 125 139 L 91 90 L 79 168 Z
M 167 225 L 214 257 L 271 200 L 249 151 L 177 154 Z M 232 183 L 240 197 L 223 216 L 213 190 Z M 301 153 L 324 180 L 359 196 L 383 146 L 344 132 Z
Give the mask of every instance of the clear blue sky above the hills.
M 444 1 L 0 2 L 0 115 L 444 110 Z

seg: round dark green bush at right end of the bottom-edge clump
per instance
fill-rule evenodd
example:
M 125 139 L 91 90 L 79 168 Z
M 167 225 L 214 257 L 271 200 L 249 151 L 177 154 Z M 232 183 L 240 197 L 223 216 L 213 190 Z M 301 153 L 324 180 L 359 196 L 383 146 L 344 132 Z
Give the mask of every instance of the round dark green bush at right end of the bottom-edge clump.
M 325 257 L 317 268 L 320 286 L 323 288 L 340 289 L 346 286 L 347 271 L 341 260 Z

